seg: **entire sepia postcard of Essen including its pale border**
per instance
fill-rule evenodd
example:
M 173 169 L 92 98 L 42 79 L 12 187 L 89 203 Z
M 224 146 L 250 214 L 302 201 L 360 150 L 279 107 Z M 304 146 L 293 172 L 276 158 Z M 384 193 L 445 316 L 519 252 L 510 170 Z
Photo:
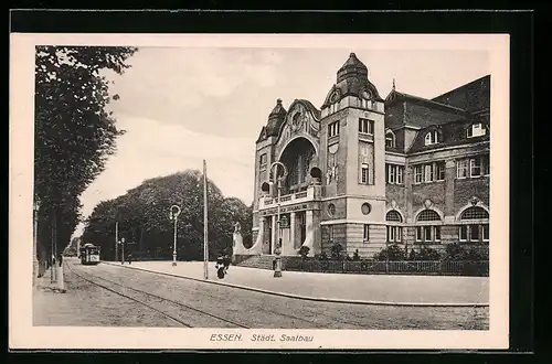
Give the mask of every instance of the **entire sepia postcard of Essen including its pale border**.
M 18 346 L 507 346 L 508 36 L 12 49 Z

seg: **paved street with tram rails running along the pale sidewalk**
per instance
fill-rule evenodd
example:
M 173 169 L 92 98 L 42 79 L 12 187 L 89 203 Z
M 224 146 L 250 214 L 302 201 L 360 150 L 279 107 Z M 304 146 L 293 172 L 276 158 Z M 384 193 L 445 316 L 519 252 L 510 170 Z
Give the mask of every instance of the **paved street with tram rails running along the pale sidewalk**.
M 306 301 L 120 266 L 81 266 L 75 259 L 66 260 L 65 281 L 67 292 L 64 295 L 44 289 L 35 291 L 36 325 L 488 329 L 488 308 L 388 307 Z M 93 282 L 104 285 L 107 289 Z

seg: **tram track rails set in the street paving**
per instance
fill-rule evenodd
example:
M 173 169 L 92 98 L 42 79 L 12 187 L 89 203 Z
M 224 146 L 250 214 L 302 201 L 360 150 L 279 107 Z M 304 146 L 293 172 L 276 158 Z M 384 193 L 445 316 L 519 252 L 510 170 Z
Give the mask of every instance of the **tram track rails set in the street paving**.
M 116 287 L 120 287 L 123 289 L 127 289 L 127 290 L 130 290 L 130 291 L 134 291 L 134 292 L 137 292 L 139 295 L 144 295 L 146 297 L 150 297 L 152 299 L 156 299 L 158 301 L 161 301 L 161 302 L 166 302 L 166 303 L 169 303 L 169 304 L 172 304 L 177 308 L 180 308 L 180 309 L 184 309 L 184 310 L 189 310 L 189 311 L 192 311 L 194 313 L 199 313 L 201 315 L 204 315 L 204 317 L 208 317 L 210 319 L 214 319 L 214 320 L 217 320 L 217 321 L 221 321 L 221 322 L 224 322 L 224 323 L 227 323 L 227 324 L 231 324 L 232 326 L 236 326 L 236 328 L 241 328 L 241 329 L 250 329 L 250 326 L 247 325 L 244 325 L 243 323 L 240 323 L 240 322 L 236 322 L 236 321 L 233 321 L 233 320 L 230 320 L 230 319 L 226 319 L 226 318 L 223 318 L 221 315 L 217 315 L 217 314 L 214 314 L 214 313 L 211 313 L 211 312 L 206 312 L 204 310 L 201 310 L 201 309 L 198 309 L 195 307 L 192 307 L 192 306 L 189 306 L 189 304 L 185 304 L 185 303 L 182 303 L 182 302 L 179 302 L 179 301 L 176 301 L 176 300 L 172 300 L 172 299 L 169 299 L 169 298 L 166 298 L 166 297 L 161 297 L 159 295 L 155 295 L 155 293 L 151 293 L 151 292 L 147 292 L 147 291 L 144 291 L 141 289 L 137 289 L 137 288 L 134 288 L 134 287 L 130 287 L 130 286 L 127 286 L 127 285 L 123 285 L 123 283 L 119 283 L 119 282 L 116 282 L 116 281 L 113 281 L 110 279 L 106 279 L 106 278 L 103 278 L 103 277 L 99 277 L 97 275 L 92 275 L 89 272 L 86 272 L 86 274 L 82 274 L 82 272 L 77 272 L 71 264 L 66 264 L 66 266 L 68 267 L 70 271 L 72 274 L 74 274 L 75 276 L 77 276 L 78 278 L 94 285 L 94 286 L 97 286 L 102 289 L 105 289 L 112 293 L 115 293 L 115 295 L 118 295 L 120 297 L 125 297 L 136 303 L 139 303 L 161 315 L 163 315 L 164 318 L 171 320 L 171 321 L 174 321 L 177 323 L 179 323 L 180 325 L 183 325 L 185 328 L 208 328 L 208 326 L 201 326 L 201 325 L 193 325 L 184 320 L 182 320 L 181 318 L 177 317 L 176 314 L 171 314 L 167 311 L 163 311 L 159 308 L 156 308 L 155 306 L 148 303 L 148 302 L 145 302 L 144 300 L 140 300 L 136 297 L 131 297 L 130 295 L 126 295 L 124 292 L 120 292 L 116 289 L 113 289 L 108 286 L 106 286 L 105 283 L 99 283 L 98 281 L 95 281 L 94 279 L 97 279 L 99 281 L 104 281 L 108 285 L 113 285 L 113 286 L 116 286 Z M 94 279 L 91 279 L 91 278 L 87 278 L 85 276 L 88 276 L 88 277 L 93 277 Z M 221 326 L 222 328 L 222 326 Z

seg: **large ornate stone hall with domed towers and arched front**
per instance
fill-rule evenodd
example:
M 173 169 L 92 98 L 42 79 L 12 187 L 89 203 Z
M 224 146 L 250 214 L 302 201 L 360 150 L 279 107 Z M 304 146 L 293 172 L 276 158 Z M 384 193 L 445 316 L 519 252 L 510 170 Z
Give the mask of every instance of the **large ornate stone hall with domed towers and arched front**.
M 373 256 L 390 243 L 489 242 L 490 76 L 433 99 L 383 99 L 351 53 L 320 109 L 280 99 L 256 141 L 253 247 L 236 254 Z M 277 199 L 272 169 L 286 165 Z

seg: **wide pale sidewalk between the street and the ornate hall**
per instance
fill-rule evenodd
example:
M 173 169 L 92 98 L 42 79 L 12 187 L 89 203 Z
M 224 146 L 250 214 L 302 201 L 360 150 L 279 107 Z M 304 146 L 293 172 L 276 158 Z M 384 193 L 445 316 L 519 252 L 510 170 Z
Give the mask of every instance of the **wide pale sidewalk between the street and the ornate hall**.
M 121 267 L 120 264 L 105 261 Z M 203 279 L 203 263 L 132 261 L 125 268 L 141 269 L 189 279 Z M 393 306 L 488 306 L 488 277 L 340 275 L 283 271 L 274 272 L 231 266 L 224 279 L 216 278 L 209 264 L 209 282 L 318 301 Z

